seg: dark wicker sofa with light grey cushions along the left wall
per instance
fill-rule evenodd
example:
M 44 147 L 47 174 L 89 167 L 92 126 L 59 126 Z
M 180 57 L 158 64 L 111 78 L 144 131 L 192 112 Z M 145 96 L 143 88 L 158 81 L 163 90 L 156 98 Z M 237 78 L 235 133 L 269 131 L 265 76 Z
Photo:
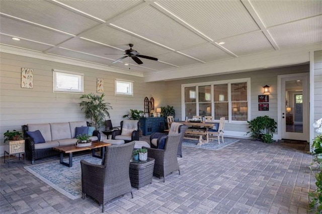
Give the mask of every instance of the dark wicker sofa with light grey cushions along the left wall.
M 48 123 L 48 124 L 27 124 L 22 126 L 23 136 L 26 145 L 26 157 L 34 164 L 36 159 L 56 155 L 57 151 L 52 148 L 55 146 L 70 145 L 76 142 L 76 127 L 87 127 L 86 121 Z M 45 143 L 35 143 L 27 132 L 40 131 Z M 93 131 L 92 142 L 100 141 L 101 135 L 98 131 Z

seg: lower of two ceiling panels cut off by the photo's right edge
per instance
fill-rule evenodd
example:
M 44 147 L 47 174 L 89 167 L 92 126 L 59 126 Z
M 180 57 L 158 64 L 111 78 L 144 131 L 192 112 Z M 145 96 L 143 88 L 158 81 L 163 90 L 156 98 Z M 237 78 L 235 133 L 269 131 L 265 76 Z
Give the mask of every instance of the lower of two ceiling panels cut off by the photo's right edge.
M 322 40 L 322 16 L 276 26 L 268 31 L 281 48 L 318 43 Z

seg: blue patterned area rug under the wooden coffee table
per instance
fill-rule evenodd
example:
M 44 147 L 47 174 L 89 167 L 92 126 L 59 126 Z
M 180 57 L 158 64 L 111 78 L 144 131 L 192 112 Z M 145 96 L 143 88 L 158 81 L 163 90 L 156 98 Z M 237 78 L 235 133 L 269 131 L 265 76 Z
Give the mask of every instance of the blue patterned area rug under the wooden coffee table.
M 81 160 L 94 164 L 102 163 L 100 158 L 83 155 L 72 158 L 72 167 L 60 164 L 58 158 L 57 161 L 25 166 L 24 168 L 58 192 L 70 199 L 77 199 L 82 197 Z M 68 161 L 68 159 L 64 161 Z

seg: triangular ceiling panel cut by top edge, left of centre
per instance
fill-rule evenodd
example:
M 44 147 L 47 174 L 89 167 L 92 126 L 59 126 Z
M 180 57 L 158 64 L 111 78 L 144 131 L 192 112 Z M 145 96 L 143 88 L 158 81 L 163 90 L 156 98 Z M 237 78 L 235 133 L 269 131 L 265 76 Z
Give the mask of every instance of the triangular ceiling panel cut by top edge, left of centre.
M 79 4 L 79 1 L 70 0 L 59 0 L 58 2 L 104 21 L 143 3 L 142 0 L 99 1 L 100 4 L 93 4 L 93 1 L 82 1 L 82 4 Z

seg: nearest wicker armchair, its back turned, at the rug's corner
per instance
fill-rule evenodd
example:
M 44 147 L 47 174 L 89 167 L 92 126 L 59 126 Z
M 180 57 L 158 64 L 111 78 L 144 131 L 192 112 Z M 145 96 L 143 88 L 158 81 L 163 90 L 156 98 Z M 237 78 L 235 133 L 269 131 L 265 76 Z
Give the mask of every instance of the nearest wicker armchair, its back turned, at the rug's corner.
M 133 198 L 129 168 L 134 144 L 108 146 L 103 165 L 81 160 L 83 199 L 93 197 L 104 212 L 105 203 L 115 197 L 131 192 Z

